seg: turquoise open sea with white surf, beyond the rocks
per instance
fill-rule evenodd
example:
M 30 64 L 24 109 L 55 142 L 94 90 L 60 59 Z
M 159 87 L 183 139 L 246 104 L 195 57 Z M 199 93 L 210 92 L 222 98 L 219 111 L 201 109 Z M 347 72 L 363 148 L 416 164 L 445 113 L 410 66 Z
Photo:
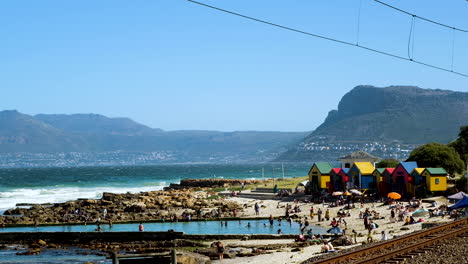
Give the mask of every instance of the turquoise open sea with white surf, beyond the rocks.
M 103 192 L 161 190 L 182 179 L 282 177 L 281 164 L 184 164 L 119 167 L 0 169 L 0 214 L 17 203 L 57 203 L 100 198 Z M 305 176 L 308 164 L 285 164 L 285 177 Z

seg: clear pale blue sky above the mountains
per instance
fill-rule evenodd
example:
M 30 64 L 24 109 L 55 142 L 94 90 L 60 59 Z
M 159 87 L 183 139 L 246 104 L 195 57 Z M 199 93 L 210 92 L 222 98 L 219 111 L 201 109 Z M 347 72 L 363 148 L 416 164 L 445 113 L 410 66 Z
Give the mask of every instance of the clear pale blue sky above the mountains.
M 311 33 L 407 54 L 411 18 L 371 0 L 206 0 Z M 468 28 L 464 0 L 391 1 Z M 184 0 L 5 1 L 2 109 L 100 113 L 165 130 L 310 131 L 356 85 L 468 92 L 468 78 Z M 451 31 L 417 21 L 414 57 L 451 67 Z M 454 70 L 468 73 L 468 33 Z

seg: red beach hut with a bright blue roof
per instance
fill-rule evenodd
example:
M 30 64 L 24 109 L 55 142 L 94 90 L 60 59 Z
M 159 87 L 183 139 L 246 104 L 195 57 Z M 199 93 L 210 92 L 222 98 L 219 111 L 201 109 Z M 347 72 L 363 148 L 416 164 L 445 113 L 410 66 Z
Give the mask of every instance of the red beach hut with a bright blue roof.
M 400 162 L 392 173 L 391 191 L 404 196 L 406 193 L 414 195 L 411 172 L 418 167 L 415 161 Z

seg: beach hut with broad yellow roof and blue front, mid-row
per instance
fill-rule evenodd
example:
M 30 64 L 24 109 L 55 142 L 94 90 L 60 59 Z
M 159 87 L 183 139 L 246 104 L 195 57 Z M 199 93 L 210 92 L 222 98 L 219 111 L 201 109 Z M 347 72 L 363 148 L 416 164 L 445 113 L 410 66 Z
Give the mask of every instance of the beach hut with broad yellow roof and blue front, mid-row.
M 374 165 L 370 162 L 355 162 L 349 169 L 348 176 L 348 189 L 377 189 L 377 181 L 375 180 Z

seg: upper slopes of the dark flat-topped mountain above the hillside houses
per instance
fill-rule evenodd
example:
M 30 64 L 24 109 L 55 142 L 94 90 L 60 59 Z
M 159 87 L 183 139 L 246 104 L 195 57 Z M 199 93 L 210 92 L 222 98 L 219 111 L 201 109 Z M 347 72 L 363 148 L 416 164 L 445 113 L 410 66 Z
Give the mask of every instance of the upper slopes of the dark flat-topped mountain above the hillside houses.
M 468 93 L 416 86 L 359 85 L 309 137 L 335 140 L 448 142 L 468 124 Z

